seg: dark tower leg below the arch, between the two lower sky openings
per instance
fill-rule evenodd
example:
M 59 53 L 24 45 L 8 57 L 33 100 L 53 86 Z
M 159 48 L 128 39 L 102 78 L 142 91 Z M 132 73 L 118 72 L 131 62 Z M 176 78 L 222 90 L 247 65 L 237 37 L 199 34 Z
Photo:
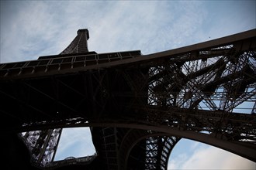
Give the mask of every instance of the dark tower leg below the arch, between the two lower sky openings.
M 95 148 L 102 155 L 106 169 L 167 169 L 171 150 L 180 139 L 144 129 L 110 126 L 92 129 Z

